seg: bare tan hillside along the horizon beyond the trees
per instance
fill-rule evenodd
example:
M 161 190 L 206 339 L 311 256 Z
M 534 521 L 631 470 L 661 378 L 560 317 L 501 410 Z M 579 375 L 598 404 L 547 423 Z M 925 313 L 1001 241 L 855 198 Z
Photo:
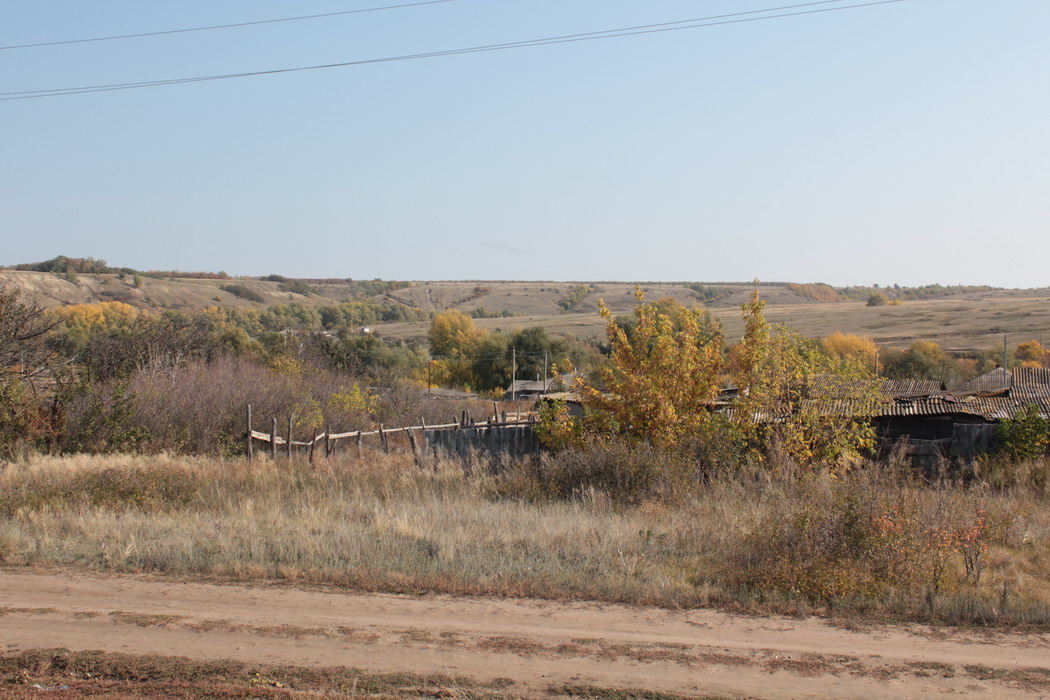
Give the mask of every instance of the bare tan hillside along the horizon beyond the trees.
M 0 283 L 15 284 L 48 306 L 124 301 L 139 309 L 195 311 L 208 306 L 262 310 L 299 303 L 332 306 L 369 301 L 386 310 L 403 306 L 440 312 L 458 309 L 489 330 L 512 331 L 541 325 L 551 333 L 587 338 L 604 336 L 597 300 L 613 314 L 634 307 L 634 282 L 623 281 L 384 281 L 292 279 L 280 275 L 232 278 L 225 273 L 134 271 L 111 268 L 91 258 L 55 258 L 43 263 L 0 270 Z M 91 272 L 91 271 L 94 272 Z M 649 299 L 671 297 L 687 305 L 711 309 L 730 337 L 741 332 L 739 305 L 751 282 L 643 282 Z M 948 348 L 983 348 L 1002 342 L 1050 338 L 1050 291 L 996 290 L 988 287 L 832 288 L 822 283 L 762 282 L 768 317 L 808 336 L 841 331 L 886 345 L 916 339 L 936 340 Z M 873 293 L 899 305 L 867 306 Z M 382 313 L 382 318 L 396 315 Z M 408 313 L 426 319 L 426 314 Z M 388 338 L 420 339 L 428 320 L 387 322 L 377 332 Z M 1046 338 L 1044 338 L 1045 340 Z

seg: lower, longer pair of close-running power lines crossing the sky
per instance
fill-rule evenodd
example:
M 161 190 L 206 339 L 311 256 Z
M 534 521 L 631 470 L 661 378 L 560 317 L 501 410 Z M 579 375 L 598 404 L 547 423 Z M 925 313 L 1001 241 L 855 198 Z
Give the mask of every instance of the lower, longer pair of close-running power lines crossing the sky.
M 235 73 L 220 73 L 213 76 L 196 76 L 190 78 L 173 78 L 169 80 L 141 81 L 134 83 L 113 83 L 108 85 L 84 85 L 78 87 L 51 88 L 46 90 L 24 90 L 20 92 L 0 92 L 0 102 L 10 100 L 34 100 L 38 98 L 55 98 L 68 94 L 85 94 L 89 92 L 109 92 L 114 90 L 131 90 L 144 87 L 161 87 L 165 85 L 181 85 L 184 83 L 201 83 L 216 80 L 233 80 L 238 78 L 253 78 L 257 76 L 276 76 L 280 73 L 303 72 L 308 70 L 324 70 L 329 68 L 345 68 L 351 66 L 372 65 L 379 63 L 394 63 L 399 61 L 417 61 L 421 59 L 432 59 L 444 56 L 461 56 L 465 54 L 482 54 L 488 51 L 509 50 L 514 48 L 532 48 L 536 46 L 550 46 L 554 44 L 568 44 L 582 41 L 596 41 L 601 39 L 615 39 L 618 37 L 634 37 L 649 34 L 659 34 L 666 31 L 679 31 L 682 29 L 697 29 L 712 26 L 722 26 L 727 24 L 741 24 L 744 22 L 760 22 L 764 20 L 781 19 L 785 17 L 800 17 L 804 15 L 818 15 L 823 13 L 842 12 L 848 9 L 859 9 L 862 7 L 874 7 L 877 5 L 890 5 L 908 0 L 872 0 L 870 2 L 856 3 L 852 5 L 839 5 L 835 7 L 819 7 L 816 9 L 805 9 L 799 12 L 780 12 L 799 7 L 812 7 L 814 5 L 825 5 L 842 0 L 821 0 L 819 2 L 805 2 L 795 5 L 783 5 L 780 7 L 769 7 L 765 9 L 753 9 L 742 13 L 732 13 L 729 15 L 714 15 L 691 20 L 678 20 L 675 22 L 662 22 L 659 24 L 643 24 L 631 27 L 621 27 L 618 29 L 605 29 L 602 31 L 589 31 L 585 34 L 564 35 L 560 37 L 547 37 L 544 39 L 529 39 L 525 41 L 506 42 L 502 44 L 486 44 L 481 46 L 469 46 L 465 48 L 454 48 L 441 51 L 429 51 L 424 54 L 406 54 L 401 56 L 391 56 L 377 59 L 361 59 L 357 61 L 343 61 L 339 63 L 326 63 L 311 66 L 297 66 L 292 68 L 274 68 L 270 70 L 253 70 Z M 779 13 L 779 14 L 769 14 Z M 730 19 L 733 18 L 733 19 Z

